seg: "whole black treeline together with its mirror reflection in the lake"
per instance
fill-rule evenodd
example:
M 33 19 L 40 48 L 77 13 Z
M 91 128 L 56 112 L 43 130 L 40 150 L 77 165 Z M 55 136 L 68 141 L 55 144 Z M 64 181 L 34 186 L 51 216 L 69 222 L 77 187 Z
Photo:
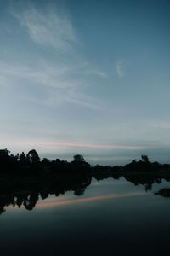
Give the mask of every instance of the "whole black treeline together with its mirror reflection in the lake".
M 143 184 L 146 191 L 162 178 L 170 181 L 170 166 L 151 163 L 147 155 L 126 166 L 90 166 L 82 155 L 77 154 L 71 162 L 64 160 L 40 160 L 35 149 L 25 154 L 10 154 L 0 150 L 0 214 L 4 207 L 24 206 L 32 210 L 41 196 L 63 195 L 73 191 L 82 195 L 91 184 L 92 177 L 102 180 L 124 177 L 134 185 Z M 160 194 L 161 195 L 161 194 Z

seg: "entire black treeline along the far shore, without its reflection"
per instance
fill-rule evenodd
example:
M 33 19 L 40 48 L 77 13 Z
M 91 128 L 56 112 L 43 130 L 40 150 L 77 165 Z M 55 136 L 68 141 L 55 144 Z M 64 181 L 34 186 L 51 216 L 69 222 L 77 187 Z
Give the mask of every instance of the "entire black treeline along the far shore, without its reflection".
M 31 149 L 27 154 L 10 154 L 8 149 L 0 150 L 0 174 L 13 173 L 20 175 L 50 175 L 51 172 L 73 173 L 73 172 L 93 172 L 94 175 L 100 174 L 107 176 L 112 172 L 159 172 L 170 171 L 170 165 L 150 162 L 147 155 L 142 155 L 141 160 L 133 160 L 126 166 L 90 166 L 82 155 L 74 155 L 74 160 L 67 162 L 65 160 L 40 160 L 35 149 Z

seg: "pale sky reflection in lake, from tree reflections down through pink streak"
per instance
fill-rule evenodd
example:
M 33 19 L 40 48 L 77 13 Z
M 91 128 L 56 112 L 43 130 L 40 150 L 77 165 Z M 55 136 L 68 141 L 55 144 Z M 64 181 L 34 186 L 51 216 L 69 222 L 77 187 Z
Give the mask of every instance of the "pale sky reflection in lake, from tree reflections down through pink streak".
M 42 209 L 47 207 L 59 207 L 66 205 L 74 205 L 77 203 L 91 202 L 91 201 L 104 201 L 108 199 L 118 199 L 122 197 L 131 197 L 139 195 L 150 195 L 153 192 L 170 187 L 170 183 L 163 180 L 161 183 L 154 183 L 152 185 L 152 191 L 145 192 L 144 185 L 139 184 L 135 186 L 133 183 L 127 182 L 124 177 L 120 177 L 118 180 L 113 178 L 107 178 L 101 181 L 97 181 L 95 178 L 92 179 L 92 183 L 85 190 L 83 195 L 74 195 L 73 191 L 65 192 L 65 195 L 48 195 L 48 198 L 37 201 L 36 208 Z M 7 210 L 18 210 L 16 207 L 5 207 Z M 21 206 L 20 209 L 25 209 Z

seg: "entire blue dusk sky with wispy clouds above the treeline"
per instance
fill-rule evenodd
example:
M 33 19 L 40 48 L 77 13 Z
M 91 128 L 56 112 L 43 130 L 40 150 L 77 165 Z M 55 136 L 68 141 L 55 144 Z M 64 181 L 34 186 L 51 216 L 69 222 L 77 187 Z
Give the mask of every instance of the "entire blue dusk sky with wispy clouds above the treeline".
M 170 163 L 170 2 L 0 0 L 0 148 Z

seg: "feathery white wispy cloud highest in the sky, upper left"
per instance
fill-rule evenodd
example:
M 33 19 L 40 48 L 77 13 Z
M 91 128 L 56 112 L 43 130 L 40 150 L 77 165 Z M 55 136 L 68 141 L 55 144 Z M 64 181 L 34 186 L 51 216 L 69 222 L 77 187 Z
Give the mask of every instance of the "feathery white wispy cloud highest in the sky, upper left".
M 54 13 L 53 10 L 42 14 L 33 6 L 23 12 L 13 10 L 12 14 L 26 27 L 31 39 L 38 44 L 50 45 L 59 51 L 67 52 L 71 49 L 71 43 L 77 41 L 67 15 L 56 11 Z

